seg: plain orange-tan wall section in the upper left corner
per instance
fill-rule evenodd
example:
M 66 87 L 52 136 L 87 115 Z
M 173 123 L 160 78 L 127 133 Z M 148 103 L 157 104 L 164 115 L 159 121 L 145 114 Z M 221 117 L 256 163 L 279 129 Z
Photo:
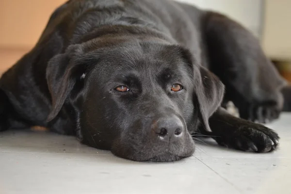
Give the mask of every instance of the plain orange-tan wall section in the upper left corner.
M 0 47 L 31 48 L 66 0 L 0 0 Z

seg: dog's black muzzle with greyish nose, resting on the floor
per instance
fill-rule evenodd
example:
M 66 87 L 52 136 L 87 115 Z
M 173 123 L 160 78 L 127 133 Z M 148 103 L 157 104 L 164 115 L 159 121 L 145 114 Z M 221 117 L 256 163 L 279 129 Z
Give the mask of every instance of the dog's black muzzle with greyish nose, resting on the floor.
M 140 119 L 130 127 L 119 129 L 107 146 L 109 150 L 117 157 L 136 162 L 173 162 L 193 155 L 194 140 L 183 119 L 166 114 L 148 120 Z M 100 145 L 107 139 L 99 135 L 90 137 L 96 138 L 92 144 Z

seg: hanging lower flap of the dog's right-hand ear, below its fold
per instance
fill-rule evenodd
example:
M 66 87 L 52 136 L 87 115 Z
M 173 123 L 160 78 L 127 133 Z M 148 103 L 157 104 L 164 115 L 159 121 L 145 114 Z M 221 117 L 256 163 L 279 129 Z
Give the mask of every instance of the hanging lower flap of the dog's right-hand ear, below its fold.
M 200 76 L 197 76 L 194 92 L 198 100 L 198 108 L 203 126 L 205 130 L 211 131 L 208 120 L 220 106 L 224 97 L 225 86 L 208 69 L 202 66 L 199 66 L 198 69 Z

